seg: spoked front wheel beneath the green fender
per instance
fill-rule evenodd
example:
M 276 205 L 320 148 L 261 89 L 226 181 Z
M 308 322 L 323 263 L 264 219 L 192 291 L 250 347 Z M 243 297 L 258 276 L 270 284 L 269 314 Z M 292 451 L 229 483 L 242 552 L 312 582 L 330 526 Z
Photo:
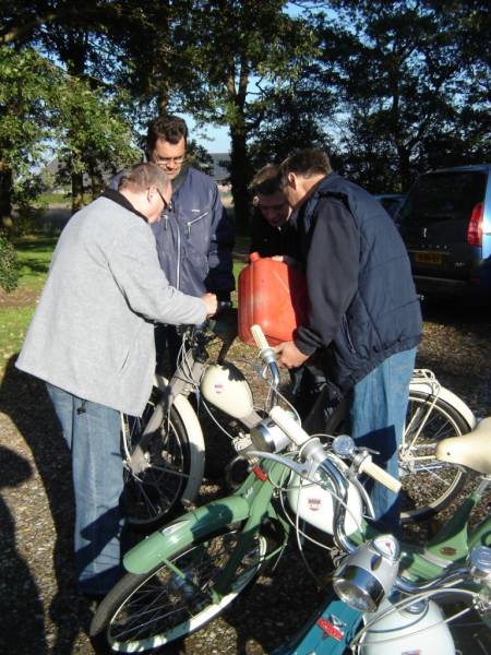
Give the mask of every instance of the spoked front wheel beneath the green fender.
M 256 534 L 239 562 L 228 593 L 214 587 L 236 546 L 240 526 L 227 526 L 168 556 L 146 574 L 127 574 L 97 608 L 91 624 L 96 651 L 147 653 L 181 640 L 221 614 L 259 575 L 267 538 Z

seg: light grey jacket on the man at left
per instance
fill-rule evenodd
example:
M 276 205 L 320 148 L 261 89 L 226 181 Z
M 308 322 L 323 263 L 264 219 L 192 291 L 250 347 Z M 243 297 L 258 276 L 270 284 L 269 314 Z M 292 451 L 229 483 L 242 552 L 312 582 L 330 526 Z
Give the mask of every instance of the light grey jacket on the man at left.
M 99 198 L 63 229 L 16 366 L 141 415 L 155 369 L 152 321 L 201 323 L 206 308 L 169 286 L 149 226 L 117 196 L 121 204 Z

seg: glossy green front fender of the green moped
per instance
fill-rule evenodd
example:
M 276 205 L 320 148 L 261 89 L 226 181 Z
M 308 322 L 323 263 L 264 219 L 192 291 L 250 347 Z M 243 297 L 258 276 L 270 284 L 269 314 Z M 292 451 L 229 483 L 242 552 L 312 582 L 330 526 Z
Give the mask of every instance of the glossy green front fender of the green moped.
M 124 569 L 129 573 L 148 573 L 184 546 L 248 516 L 249 503 L 241 496 L 230 496 L 199 508 L 183 514 L 129 550 L 123 559 Z

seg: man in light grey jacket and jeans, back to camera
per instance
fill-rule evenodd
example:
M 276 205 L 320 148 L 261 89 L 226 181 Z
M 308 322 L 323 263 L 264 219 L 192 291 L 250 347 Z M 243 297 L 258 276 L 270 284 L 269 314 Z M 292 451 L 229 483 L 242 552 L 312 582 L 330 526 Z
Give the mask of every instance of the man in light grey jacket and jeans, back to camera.
M 148 224 L 170 202 L 154 164 L 124 171 L 63 229 L 16 366 L 45 380 L 72 452 L 75 565 L 82 593 L 120 575 L 120 412 L 141 415 L 155 370 L 154 321 L 199 324 L 216 297 L 168 284 Z

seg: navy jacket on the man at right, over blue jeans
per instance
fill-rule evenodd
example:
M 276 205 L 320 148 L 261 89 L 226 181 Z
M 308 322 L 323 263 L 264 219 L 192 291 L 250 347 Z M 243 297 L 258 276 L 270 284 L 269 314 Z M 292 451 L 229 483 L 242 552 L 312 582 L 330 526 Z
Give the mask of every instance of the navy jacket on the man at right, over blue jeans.
M 294 221 L 311 303 L 295 343 L 306 355 L 322 348 L 327 377 L 344 393 L 421 338 L 406 247 L 382 205 L 334 172 Z

